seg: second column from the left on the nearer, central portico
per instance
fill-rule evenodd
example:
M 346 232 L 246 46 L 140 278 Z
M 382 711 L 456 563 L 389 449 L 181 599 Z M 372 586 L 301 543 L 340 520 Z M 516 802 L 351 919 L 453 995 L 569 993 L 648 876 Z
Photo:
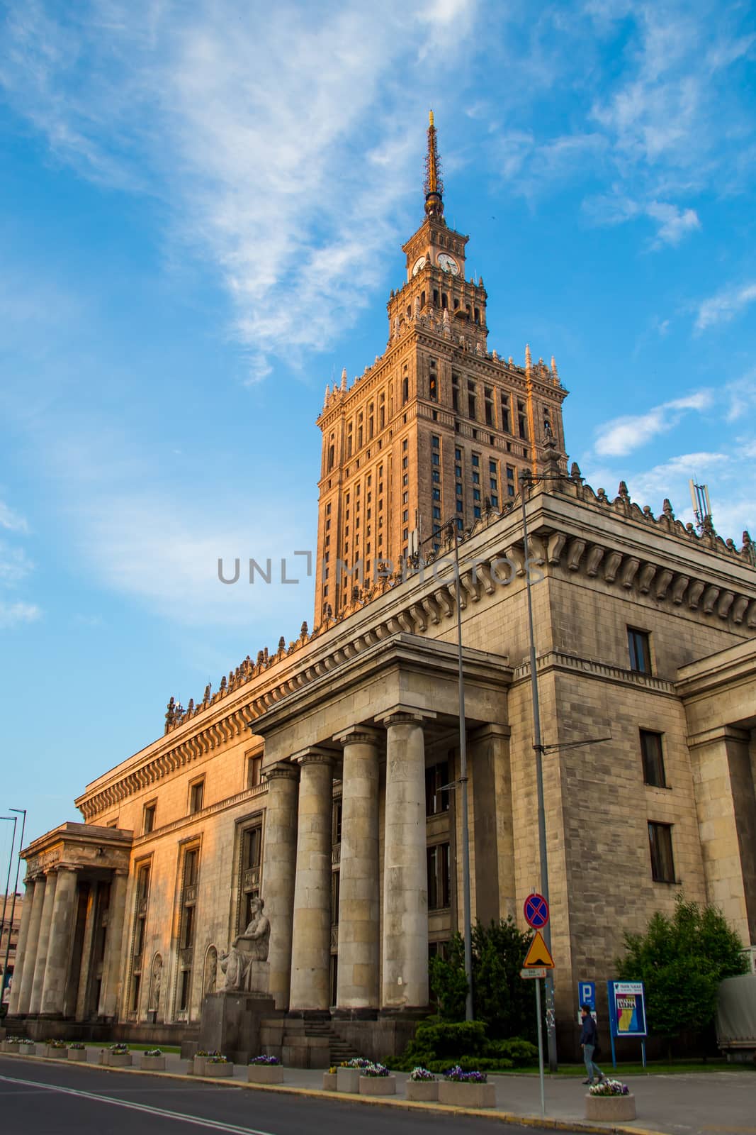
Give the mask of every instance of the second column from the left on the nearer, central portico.
M 297 877 L 294 886 L 289 1009 L 328 1009 L 331 964 L 333 757 L 298 756 Z

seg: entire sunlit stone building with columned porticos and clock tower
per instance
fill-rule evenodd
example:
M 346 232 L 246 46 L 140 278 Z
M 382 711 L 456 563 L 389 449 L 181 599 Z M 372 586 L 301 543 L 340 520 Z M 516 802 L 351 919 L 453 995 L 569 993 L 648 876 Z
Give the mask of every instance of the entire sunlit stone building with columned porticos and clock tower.
M 487 431 L 493 443 L 474 438 L 477 417 L 457 418 L 451 389 L 443 392 L 452 372 L 460 385 L 487 375 L 479 381 L 500 384 L 499 406 L 502 392 L 521 389 L 526 411 L 528 397 L 534 407 L 527 456 L 512 449 L 516 495 L 494 506 L 490 493 L 479 515 L 470 514 L 473 482 L 461 478 L 459 580 L 453 522 L 431 529 L 422 561 L 352 582 L 324 616 L 330 594 L 320 577 L 312 633 L 303 624 L 288 646 L 281 639 L 275 653 L 247 657 L 186 711 L 171 701 L 164 734 L 76 800 L 84 823 L 62 824 L 24 850 L 10 1012 L 27 1028 L 49 1033 L 58 1020 L 67 1028 L 104 1023 L 120 1035 L 193 1035 L 203 997 L 220 987 L 219 961 L 260 894 L 280 1015 L 271 1043 L 289 1060 L 323 1062 L 328 1049 L 308 1043 L 307 1023 L 317 1022 L 320 1035 L 331 1020 L 335 1033 L 358 1036 L 366 1054 L 399 1044 L 406 1031 L 397 1022 L 428 1006 L 428 953 L 461 926 L 458 608 L 473 917 L 521 920 L 538 880 L 526 571 L 546 746 L 560 1044 L 574 1043 L 577 982 L 611 976 L 623 933 L 642 930 L 654 910 L 670 911 L 680 889 L 717 903 L 744 942 L 756 943 L 750 540 L 746 533 L 738 548 L 711 523 L 700 533 L 682 524 L 669 502 L 654 516 L 623 485 L 610 498 L 584 484 L 576 465 L 568 473 L 555 368 L 526 360 L 519 371 L 485 352 L 481 284 L 455 277 L 449 285 L 451 311 L 469 295 L 479 325 L 473 313 L 456 335 L 451 316 L 426 318 L 422 304 L 413 318 L 415 292 L 425 280 L 427 304 L 436 280 L 427 263 L 411 275 L 418 261 L 430 255 L 438 264 L 439 249 L 451 249 L 464 266 L 464 238 L 445 230 L 439 209 L 438 182 L 426 184 L 426 219 L 405 246 L 409 291 L 389 304 L 390 314 L 410 309 L 404 329 L 397 316 L 387 365 L 396 382 L 401 360 L 415 360 L 413 393 L 381 452 L 400 462 L 404 440 L 413 447 L 407 471 L 418 510 L 438 484 L 428 477 L 436 448 L 455 487 L 447 448 L 502 460 L 502 419 Z M 427 386 L 422 395 L 413 385 L 421 372 L 427 379 L 431 359 L 438 405 Z M 333 466 L 322 470 L 321 557 L 326 535 L 337 543 L 339 510 L 346 521 L 347 470 L 355 485 L 357 456 L 372 440 L 364 435 L 359 454 L 354 442 L 347 456 L 343 431 L 374 396 L 368 376 L 330 394 L 320 418 L 326 462 L 330 431 L 341 431 L 338 462 L 334 439 Z M 542 479 L 526 488 L 519 477 L 533 463 Z M 382 560 L 399 558 L 405 540 L 401 504 L 387 491 Z M 443 519 L 455 521 L 456 507 L 443 503 Z

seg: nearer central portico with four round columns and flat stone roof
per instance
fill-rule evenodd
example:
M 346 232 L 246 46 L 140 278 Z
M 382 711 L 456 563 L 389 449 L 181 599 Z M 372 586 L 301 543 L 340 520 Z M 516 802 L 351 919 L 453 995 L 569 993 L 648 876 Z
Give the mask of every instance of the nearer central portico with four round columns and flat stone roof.
M 465 650 L 464 664 L 468 729 L 506 738 L 507 659 Z M 338 681 L 323 675 L 250 723 L 277 797 L 287 768 L 286 791 L 299 784 L 296 826 L 277 824 L 262 878 L 280 919 L 271 957 L 290 958 L 288 991 L 271 966 L 278 1008 L 351 1019 L 426 1010 L 426 765 L 431 750 L 457 743 L 457 665 L 455 646 L 398 634 L 345 658 Z

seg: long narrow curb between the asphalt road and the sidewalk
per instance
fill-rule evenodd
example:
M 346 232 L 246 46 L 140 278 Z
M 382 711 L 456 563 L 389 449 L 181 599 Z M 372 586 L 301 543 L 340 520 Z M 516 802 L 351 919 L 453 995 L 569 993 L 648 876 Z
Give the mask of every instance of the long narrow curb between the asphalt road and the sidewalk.
M 335 1100 L 341 1103 L 362 1103 L 366 1107 L 374 1108 L 402 1108 L 407 1111 L 417 1110 L 428 1111 L 434 1115 L 441 1112 L 447 1116 L 464 1116 L 473 1119 L 492 1119 L 511 1126 L 540 1127 L 542 1130 L 580 1132 L 585 1133 L 585 1135 L 606 1135 L 608 1132 L 613 1133 L 613 1135 L 669 1135 L 666 1132 L 659 1132 L 648 1127 L 591 1124 L 583 1119 L 557 1119 L 552 1116 L 520 1116 L 513 1111 L 498 1111 L 491 1108 L 455 1108 L 445 1103 L 421 1103 L 415 1100 L 397 1099 L 396 1096 L 368 1096 L 358 1095 L 351 1092 L 326 1092 L 323 1088 L 317 1087 L 296 1087 L 294 1084 L 249 1084 L 246 1081 L 238 1081 L 232 1077 L 195 1076 L 193 1073 L 179 1071 L 143 1071 L 141 1068 L 134 1067 L 109 1068 L 107 1065 L 90 1063 L 88 1061 L 77 1061 L 76 1063 L 69 1065 L 68 1060 L 60 1060 L 57 1057 L 20 1057 L 17 1052 L 1 1052 L 0 1057 L 7 1057 L 10 1060 L 23 1060 L 28 1063 L 33 1061 L 37 1065 L 53 1063 L 65 1066 L 66 1068 L 88 1068 L 92 1071 L 113 1073 L 117 1076 L 124 1074 L 127 1076 L 136 1074 L 138 1076 L 155 1076 L 159 1079 L 180 1079 L 185 1082 L 188 1081 L 189 1083 L 196 1082 L 197 1084 L 211 1084 L 216 1087 L 243 1087 L 253 1092 L 301 1095 L 307 1099 Z

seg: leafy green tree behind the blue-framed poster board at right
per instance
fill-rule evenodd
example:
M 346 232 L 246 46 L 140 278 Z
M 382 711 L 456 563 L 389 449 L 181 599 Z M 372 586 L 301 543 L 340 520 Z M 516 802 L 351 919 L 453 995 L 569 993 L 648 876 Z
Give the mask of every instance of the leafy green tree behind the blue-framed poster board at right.
M 656 911 L 645 934 L 625 935 L 617 961 L 620 981 L 645 985 L 649 1032 L 670 1040 L 711 1026 L 720 982 L 747 969 L 744 944 L 722 911 L 682 894 L 671 918 Z

